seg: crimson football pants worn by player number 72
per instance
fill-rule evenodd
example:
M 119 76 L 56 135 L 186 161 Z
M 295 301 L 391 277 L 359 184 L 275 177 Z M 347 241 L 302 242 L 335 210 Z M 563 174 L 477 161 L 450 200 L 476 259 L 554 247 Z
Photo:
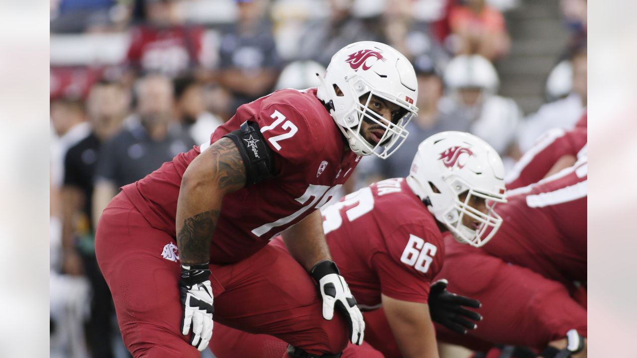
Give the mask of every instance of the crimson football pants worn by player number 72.
M 180 263 L 162 257 L 169 243 L 175 239 L 151 227 L 123 192 L 97 226 L 97 261 L 113 295 L 124 344 L 134 357 L 200 356 L 180 332 Z M 280 248 L 268 245 L 243 261 L 211 264 L 210 270 L 215 321 L 271 334 L 311 354 L 338 353 L 347 345 L 345 320 L 339 314 L 323 319 L 315 283 Z

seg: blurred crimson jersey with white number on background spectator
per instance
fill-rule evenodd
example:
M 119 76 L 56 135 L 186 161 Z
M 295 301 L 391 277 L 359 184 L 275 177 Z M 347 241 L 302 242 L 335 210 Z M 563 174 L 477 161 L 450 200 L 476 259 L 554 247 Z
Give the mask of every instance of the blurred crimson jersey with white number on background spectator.
M 195 65 L 208 65 L 211 50 L 204 41 L 204 27 L 140 26 L 131 31 L 126 61 L 143 72 L 175 76 Z

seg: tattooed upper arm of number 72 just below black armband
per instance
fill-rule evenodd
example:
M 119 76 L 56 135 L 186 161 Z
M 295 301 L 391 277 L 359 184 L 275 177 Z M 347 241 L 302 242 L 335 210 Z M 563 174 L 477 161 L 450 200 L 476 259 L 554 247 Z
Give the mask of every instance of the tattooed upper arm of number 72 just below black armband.
M 232 192 L 245 186 L 245 164 L 233 140 L 221 138 L 201 155 L 207 155 L 211 159 L 211 175 L 218 188 Z

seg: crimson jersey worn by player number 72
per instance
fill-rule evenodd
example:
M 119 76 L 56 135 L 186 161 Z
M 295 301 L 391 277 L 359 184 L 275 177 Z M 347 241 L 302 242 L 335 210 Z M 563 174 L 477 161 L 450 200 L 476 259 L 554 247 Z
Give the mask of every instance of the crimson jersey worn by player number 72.
M 360 157 L 343 141 L 316 89 L 280 90 L 244 104 L 218 127 L 210 143 L 256 122 L 275 153 L 278 175 L 224 196 L 211 238 L 210 262 L 248 257 L 334 196 Z M 155 228 L 175 237 L 177 197 L 184 171 L 208 143 L 176 155 L 122 189 Z M 347 151 L 346 151 L 347 148 Z

